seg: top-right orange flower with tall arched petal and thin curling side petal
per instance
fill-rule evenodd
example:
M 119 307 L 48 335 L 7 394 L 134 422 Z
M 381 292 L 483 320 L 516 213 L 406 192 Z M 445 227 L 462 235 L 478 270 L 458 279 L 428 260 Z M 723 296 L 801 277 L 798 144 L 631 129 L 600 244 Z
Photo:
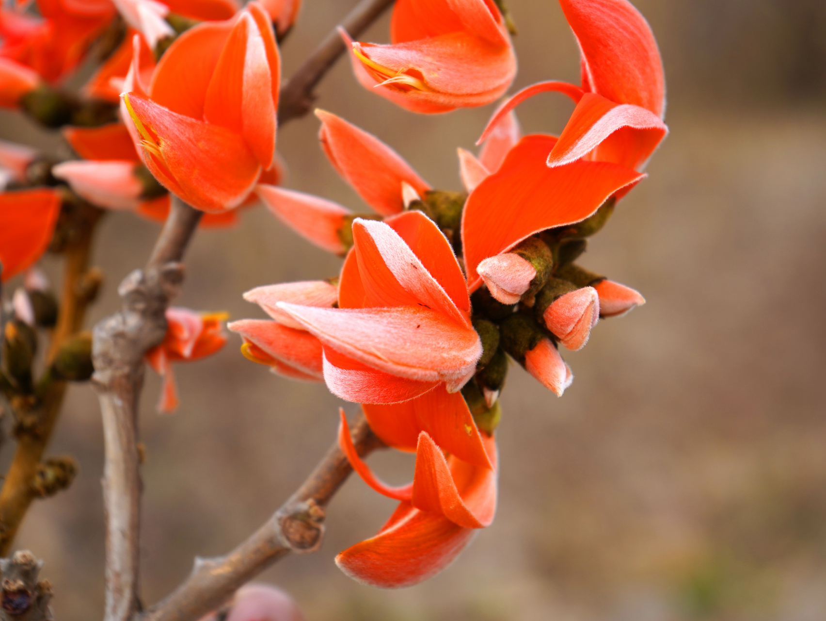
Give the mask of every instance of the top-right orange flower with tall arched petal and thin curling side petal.
M 548 166 L 585 156 L 643 170 L 668 133 L 662 59 L 651 28 L 627 0 L 560 0 L 582 52 L 582 88 L 534 84 L 491 117 L 483 141 L 507 112 L 537 93 L 558 91 L 577 107 L 548 153 Z

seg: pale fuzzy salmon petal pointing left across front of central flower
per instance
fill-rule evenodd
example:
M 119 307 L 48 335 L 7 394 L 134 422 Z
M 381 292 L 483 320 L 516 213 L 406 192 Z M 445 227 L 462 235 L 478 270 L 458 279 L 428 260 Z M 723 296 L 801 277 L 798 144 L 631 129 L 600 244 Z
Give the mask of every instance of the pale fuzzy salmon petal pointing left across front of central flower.
M 325 346 L 373 369 L 420 382 L 451 382 L 475 369 L 482 343 L 464 327 L 421 307 L 313 308 L 279 302 Z

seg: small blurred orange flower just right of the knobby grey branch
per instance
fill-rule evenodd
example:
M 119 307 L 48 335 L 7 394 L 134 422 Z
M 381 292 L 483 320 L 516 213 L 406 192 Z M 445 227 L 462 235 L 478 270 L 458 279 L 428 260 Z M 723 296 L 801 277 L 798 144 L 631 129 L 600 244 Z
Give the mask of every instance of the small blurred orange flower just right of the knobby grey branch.
M 211 356 L 226 342 L 221 322 L 226 313 L 196 313 L 188 308 L 166 309 L 168 324 L 164 342 L 146 352 L 146 362 L 164 378 L 158 403 L 160 413 L 178 409 L 178 387 L 172 371 L 173 362 L 196 361 Z

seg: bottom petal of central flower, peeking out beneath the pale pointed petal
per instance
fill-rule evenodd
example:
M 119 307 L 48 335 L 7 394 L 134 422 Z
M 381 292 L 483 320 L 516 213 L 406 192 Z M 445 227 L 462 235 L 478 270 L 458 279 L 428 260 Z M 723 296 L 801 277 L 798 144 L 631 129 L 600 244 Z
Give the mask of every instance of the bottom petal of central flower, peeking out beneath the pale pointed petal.
M 396 404 L 434 389 L 439 382 L 406 380 L 373 369 L 325 347 L 324 380 L 330 392 L 358 404 Z

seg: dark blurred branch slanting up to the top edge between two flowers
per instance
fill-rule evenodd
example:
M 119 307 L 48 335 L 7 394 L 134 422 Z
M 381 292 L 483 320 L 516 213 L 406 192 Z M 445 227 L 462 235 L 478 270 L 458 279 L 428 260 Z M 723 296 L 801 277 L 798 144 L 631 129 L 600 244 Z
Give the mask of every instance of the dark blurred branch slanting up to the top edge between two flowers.
M 392 5 L 393 0 L 362 0 L 349 12 L 341 27 L 350 36 L 360 35 L 387 7 Z M 296 117 L 302 117 L 313 105 L 316 95 L 313 89 L 324 74 L 339 60 L 339 56 L 344 54 L 344 41 L 341 40 L 339 32 L 334 29 L 321 41 L 320 45 L 301 64 L 289 82 L 281 89 L 278 103 L 278 122 L 284 124 Z

